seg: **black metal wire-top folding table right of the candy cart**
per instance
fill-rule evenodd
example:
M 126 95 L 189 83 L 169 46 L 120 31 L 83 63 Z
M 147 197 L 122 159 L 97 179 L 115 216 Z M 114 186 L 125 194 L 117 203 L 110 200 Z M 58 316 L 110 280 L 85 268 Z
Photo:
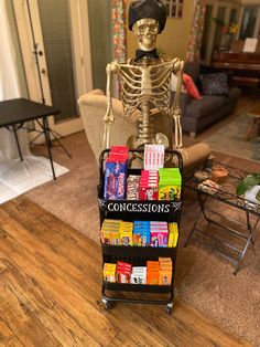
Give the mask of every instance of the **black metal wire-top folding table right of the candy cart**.
M 201 232 L 204 235 L 208 236 L 213 245 L 214 251 L 218 252 L 225 259 L 228 259 L 234 265 L 234 274 L 237 274 L 240 267 L 240 264 L 246 255 L 246 252 L 251 243 L 253 243 L 253 234 L 257 229 L 259 219 L 260 219 L 260 203 L 250 202 L 242 197 L 237 196 L 236 187 L 239 181 L 250 175 L 241 169 L 237 169 L 227 165 L 224 165 L 218 161 L 212 161 L 205 164 L 203 171 L 210 175 L 212 167 L 220 166 L 228 170 L 228 178 L 224 183 L 219 185 L 218 189 L 209 189 L 207 185 L 199 185 L 203 181 L 198 181 L 194 177 L 196 169 L 189 171 L 184 179 L 184 187 L 192 189 L 197 192 L 197 201 L 199 204 L 199 212 L 194 222 L 194 225 L 186 239 L 185 246 L 188 244 L 192 235 L 195 232 Z M 216 203 L 210 203 L 213 201 Z M 237 211 L 242 212 L 245 218 L 243 222 L 238 222 L 237 220 L 227 218 L 219 213 L 217 210 L 223 203 L 224 209 L 229 209 L 229 207 L 235 208 Z M 212 206 L 210 206 L 212 204 Z M 202 221 L 206 222 L 206 230 L 199 228 Z M 217 231 L 209 232 L 210 227 L 217 225 L 225 233 L 225 239 L 221 240 L 218 238 Z M 238 248 L 235 243 L 235 239 L 239 238 L 242 241 L 242 246 Z M 220 244 L 220 250 L 217 245 Z M 227 255 L 223 252 L 223 248 L 227 248 L 228 251 L 235 252 L 237 256 Z

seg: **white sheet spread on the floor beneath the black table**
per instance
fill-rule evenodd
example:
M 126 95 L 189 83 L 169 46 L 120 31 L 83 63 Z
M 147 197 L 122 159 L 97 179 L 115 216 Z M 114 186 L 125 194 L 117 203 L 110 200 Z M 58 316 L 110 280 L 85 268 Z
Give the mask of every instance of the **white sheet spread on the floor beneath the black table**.
M 68 169 L 54 162 L 56 177 Z M 53 180 L 50 160 L 43 157 L 25 156 L 0 162 L 0 203 L 11 200 L 25 191 Z

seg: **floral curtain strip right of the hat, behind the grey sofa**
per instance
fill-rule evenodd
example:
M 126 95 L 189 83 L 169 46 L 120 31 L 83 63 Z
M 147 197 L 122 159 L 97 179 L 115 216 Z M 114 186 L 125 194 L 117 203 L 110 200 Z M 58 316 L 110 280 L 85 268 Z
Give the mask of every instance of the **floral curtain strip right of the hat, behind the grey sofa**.
M 206 0 L 195 0 L 193 24 L 189 33 L 186 61 L 195 62 L 201 59 L 203 28 L 205 20 Z

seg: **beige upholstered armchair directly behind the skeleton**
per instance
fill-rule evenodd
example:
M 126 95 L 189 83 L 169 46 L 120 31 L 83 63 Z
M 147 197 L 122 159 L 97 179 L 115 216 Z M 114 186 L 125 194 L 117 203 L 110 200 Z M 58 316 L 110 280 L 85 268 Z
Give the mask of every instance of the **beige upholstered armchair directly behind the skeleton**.
M 84 129 L 95 158 L 98 162 L 102 148 L 104 134 L 104 116 L 107 111 L 107 96 L 101 90 L 94 90 L 84 94 L 78 99 L 79 112 L 84 124 Z M 111 145 L 127 145 L 127 140 L 131 135 L 137 135 L 138 115 L 131 119 L 127 118 L 122 103 L 112 98 L 112 107 L 115 114 L 115 123 L 110 129 Z M 154 127 L 159 132 L 171 132 L 166 117 L 158 115 L 154 112 Z M 172 146 L 171 146 L 172 147 Z M 183 164 L 185 171 L 193 167 L 197 167 L 210 156 L 210 149 L 206 144 L 196 144 L 192 147 L 183 149 Z

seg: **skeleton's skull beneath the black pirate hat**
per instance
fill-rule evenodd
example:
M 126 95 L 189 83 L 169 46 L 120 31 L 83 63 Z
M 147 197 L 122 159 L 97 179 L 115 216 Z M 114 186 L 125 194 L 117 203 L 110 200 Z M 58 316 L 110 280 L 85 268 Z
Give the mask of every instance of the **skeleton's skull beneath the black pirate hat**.
M 138 38 L 140 50 L 150 52 L 156 48 L 159 22 L 155 19 L 145 18 L 137 21 L 132 27 L 132 31 Z

